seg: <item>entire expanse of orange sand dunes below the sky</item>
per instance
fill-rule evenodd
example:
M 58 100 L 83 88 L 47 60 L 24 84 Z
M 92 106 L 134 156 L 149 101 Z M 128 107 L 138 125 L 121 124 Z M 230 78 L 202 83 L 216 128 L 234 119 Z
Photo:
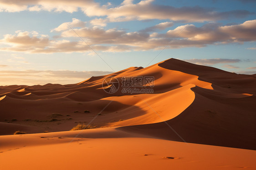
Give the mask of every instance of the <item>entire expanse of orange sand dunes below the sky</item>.
M 122 88 L 107 93 L 111 85 L 102 82 L 109 76 L 118 82 L 123 77 L 153 76 L 154 87 L 146 88 L 154 93 L 124 93 Z M 133 169 L 133 164 L 120 168 L 129 160 L 137 169 L 253 169 L 255 104 L 256 75 L 238 75 L 177 59 L 72 85 L 0 86 L 0 160 L 6 160 L 0 168 L 58 165 L 79 169 L 82 156 L 89 161 L 88 167 L 96 169 L 102 169 L 97 160 L 103 161 L 103 169 Z M 96 129 L 67 131 L 94 118 Z M 12 135 L 17 130 L 39 134 Z M 73 139 L 77 133 L 81 134 Z M 32 157 L 34 163 L 29 166 L 24 158 L 18 161 L 21 166 L 10 165 L 33 150 L 41 160 Z M 42 163 L 47 154 L 55 160 Z M 113 159 L 117 159 L 116 166 Z M 61 160 L 66 163 L 54 165 Z M 36 162 L 44 165 L 36 167 Z

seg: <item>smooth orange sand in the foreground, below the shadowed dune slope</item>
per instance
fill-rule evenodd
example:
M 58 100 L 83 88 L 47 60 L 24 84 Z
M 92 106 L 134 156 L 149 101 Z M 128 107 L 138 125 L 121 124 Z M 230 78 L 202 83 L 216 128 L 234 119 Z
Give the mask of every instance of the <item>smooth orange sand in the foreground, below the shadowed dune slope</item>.
M 74 136 L 80 133 L 77 138 Z M 17 142 L 19 141 L 19 142 Z M 1 136 L 1 169 L 239 170 L 256 151 L 161 140 L 115 128 Z

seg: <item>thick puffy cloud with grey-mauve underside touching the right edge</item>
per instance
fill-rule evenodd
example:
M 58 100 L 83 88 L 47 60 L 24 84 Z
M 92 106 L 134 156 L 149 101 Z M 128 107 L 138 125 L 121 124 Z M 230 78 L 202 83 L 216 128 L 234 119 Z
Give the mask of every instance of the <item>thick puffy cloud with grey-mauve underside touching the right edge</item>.
M 181 25 L 167 32 L 169 37 L 180 37 L 188 40 L 212 44 L 215 42 L 230 43 L 256 40 L 256 20 L 248 20 L 242 24 L 219 26 L 217 23 L 195 25 Z

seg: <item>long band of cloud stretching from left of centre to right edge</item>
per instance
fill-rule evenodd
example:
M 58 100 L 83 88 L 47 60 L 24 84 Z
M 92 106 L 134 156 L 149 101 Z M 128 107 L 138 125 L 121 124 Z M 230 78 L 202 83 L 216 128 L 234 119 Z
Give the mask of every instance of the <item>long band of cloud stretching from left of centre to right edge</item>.
M 153 33 L 150 35 L 147 33 L 147 31 L 164 29 L 170 25 L 172 25 L 170 22 L 160 23 L 138 32 L 128 33 L 124 30 L 104 30 L 99 27 L 84 27 L 75 29 L 75 31 L 78 35 L 86 38 L 90 44 L 129 45 L 133 46 L 134 50 L 157 50 L 168 44 L 168 48 L 183 48 L 256 41 L 256 20 L 230 26 L 220 26 L 217 23 L 208 23 L 201 27 L 181 25 L 174 30 L 169 30 L 166 34 Z M 76 37 L 77 35 L 73 30 L 67 30 L 62 32 L 61 36 Z

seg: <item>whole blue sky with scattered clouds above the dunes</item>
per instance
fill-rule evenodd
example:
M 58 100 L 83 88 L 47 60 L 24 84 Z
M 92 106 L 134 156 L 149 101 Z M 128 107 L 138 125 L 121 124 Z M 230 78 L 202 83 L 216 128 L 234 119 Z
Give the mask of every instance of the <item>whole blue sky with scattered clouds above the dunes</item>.
M 256 0 L 0 0 L 0 85 L 73 84 L 169 58 L 256 74 Z

